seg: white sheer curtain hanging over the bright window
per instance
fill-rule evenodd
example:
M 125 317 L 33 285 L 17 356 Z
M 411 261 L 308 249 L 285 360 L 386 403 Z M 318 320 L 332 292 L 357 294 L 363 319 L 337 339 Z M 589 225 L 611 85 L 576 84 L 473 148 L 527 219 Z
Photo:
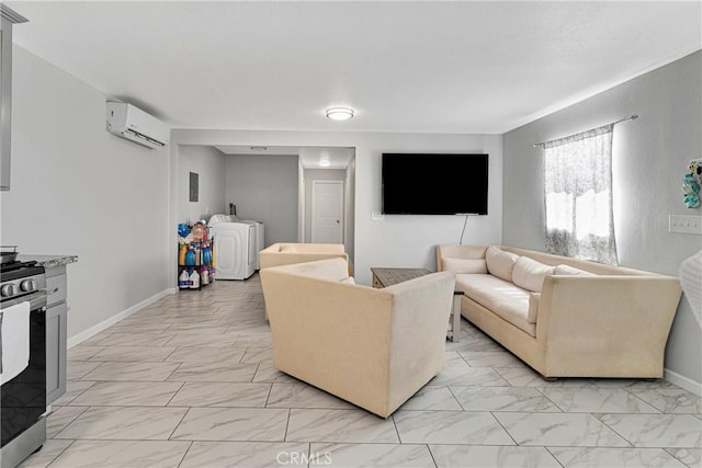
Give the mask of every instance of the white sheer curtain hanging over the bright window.
M 547 252 L 616 264 L 612 128 L 543 145 Z

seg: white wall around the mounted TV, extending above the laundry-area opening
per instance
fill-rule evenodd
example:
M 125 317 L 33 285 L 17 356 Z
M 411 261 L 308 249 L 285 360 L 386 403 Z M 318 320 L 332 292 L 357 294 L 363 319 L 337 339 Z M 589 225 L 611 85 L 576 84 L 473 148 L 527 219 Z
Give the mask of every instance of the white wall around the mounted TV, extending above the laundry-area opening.
M 464 221 L 464 218 L 458 216 L 387 216 L 383 221 L 371 220 L 372 212 L 381 210 L 381 155 L 383 152 L 489 153 L 490 215 L 469 219 L 464 243 L 501 242 L 502 137 L 500 135 L 179 129 L 173 130 L 171 137 L 173 164 L 178 164 L 180 159 L 178 144 L 355 148 L 354 272 L 356 279 L 366 285 L 371 284 L 371 266 L 426 266 L 435 270 L 435 246 L 457 243 Z M 178 189 L 172 187 L 172 190 Z M 291 196 L 296 197 L 297 193 Z

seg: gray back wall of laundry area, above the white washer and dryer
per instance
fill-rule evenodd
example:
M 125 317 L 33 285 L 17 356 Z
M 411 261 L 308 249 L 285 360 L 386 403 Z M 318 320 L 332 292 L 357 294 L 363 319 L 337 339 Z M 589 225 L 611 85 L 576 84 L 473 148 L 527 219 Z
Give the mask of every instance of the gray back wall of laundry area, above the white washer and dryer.
M 297 155 L 225 157 L 225 203 L 241 219 L 263 221 L 264 243 L 297 240 Z

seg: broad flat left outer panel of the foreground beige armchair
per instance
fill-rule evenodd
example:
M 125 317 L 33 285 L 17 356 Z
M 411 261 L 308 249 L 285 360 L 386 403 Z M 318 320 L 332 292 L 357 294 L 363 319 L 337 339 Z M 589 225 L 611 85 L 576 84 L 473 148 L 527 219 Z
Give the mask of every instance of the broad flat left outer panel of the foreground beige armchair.
M 280 271 L 262 270 L 261 277 L 275 367 L 383 413 L 387 398 L 377 387 L 388 381 L 392 296 Z

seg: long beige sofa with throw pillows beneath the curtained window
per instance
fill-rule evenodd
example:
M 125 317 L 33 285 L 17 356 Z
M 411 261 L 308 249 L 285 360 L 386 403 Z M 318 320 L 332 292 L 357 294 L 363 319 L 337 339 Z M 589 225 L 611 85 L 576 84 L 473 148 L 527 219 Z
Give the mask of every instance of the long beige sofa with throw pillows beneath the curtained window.
M 497 246 L 438 246 L 461 313 L 544 377 L 663 377 L 678 278 Z

